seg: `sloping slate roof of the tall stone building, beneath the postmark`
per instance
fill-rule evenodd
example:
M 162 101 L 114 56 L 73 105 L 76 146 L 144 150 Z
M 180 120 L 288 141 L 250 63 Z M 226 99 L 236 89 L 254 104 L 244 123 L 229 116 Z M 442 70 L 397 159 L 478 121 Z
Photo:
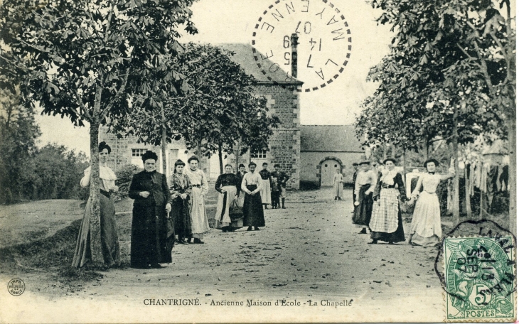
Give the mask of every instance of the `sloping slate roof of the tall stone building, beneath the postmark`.
M 235 63 L 238 63 L 241 65 L 243 70 L 249 75 L 252 75 L 255 77 L 255 79 L 258 82 L 277 82 L 277 83 L 292 83 L 292 84 L 298 84 L 301 85 L 303 82 L 299 80 L 293 80 L 291 82 L 286 82 L 287 79 L 287 72 L 289 71 L 283 71 L 282 68 L 279 68 L 274 73 L 268 73 L 268 76 L 271 77 L 272 80 L 267 79 L 267 75 L 264 75 L 260 68 L 258 68 L 256 60 L 254 58 L 254 53 L 252 53 L 252 45 L 245 44 L 245 43 L 220 43 L 220 44 L 213 44 L 214 46 L 218 46 L 219 48 L 223 48 L 225 50 L 229 50 L 235 55 L 231 56 L 231 60 L 233 60 Z M 270 60 L 262 60 L 262 66 L 263 67 L 269 67 L 272 65 L 272 61 Z

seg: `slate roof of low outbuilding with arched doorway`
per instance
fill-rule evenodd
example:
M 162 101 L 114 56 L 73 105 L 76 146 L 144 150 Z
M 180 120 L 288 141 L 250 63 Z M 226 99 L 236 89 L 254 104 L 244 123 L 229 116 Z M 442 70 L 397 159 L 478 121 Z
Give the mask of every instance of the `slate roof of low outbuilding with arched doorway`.
M 301 125 L 301 152 L 359 152 L 353 125 Z

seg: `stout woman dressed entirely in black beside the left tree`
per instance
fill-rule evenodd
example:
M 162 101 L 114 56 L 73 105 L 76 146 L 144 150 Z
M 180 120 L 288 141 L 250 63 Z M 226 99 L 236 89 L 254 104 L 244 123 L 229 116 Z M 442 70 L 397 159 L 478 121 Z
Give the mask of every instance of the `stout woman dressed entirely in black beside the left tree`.
M 171 195 L 166 175 L 156 171 L 156 153 L 146 151 L 142 156 L 144 171 L 134 175 L 129 198 L 134 199 L 132 218 L 132 248 L 130 266 L 137 269 L 158 269 L 160 263 L 171 262 L 171 247 L 175 235 L 168 233 Z

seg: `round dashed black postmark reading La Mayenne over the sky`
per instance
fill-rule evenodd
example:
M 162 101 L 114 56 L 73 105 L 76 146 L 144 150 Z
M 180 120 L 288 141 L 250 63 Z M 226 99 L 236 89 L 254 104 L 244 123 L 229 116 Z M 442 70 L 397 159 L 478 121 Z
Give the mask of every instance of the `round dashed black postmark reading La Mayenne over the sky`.
M 252 33 L 257 68 L 274 84 L 302 82 L 299 92 L 330 85 L 351 57 L 351 28 L 328 0 L 276 0 Z

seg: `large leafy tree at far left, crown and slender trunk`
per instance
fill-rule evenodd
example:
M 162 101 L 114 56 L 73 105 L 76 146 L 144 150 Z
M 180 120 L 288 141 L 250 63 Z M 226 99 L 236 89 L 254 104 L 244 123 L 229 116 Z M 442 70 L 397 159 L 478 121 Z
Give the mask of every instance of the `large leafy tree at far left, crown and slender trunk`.
M 173 58 L 179 24 L 195 33 L 192 0 L 6 0 L 1 6 L 4 70 L 17 71 L 26 104 L 45 114 L 90 124 L 92 259 L 100 246 L 100 124 L 131 111 L 133 98 L 151 107 L 181 87 Z

